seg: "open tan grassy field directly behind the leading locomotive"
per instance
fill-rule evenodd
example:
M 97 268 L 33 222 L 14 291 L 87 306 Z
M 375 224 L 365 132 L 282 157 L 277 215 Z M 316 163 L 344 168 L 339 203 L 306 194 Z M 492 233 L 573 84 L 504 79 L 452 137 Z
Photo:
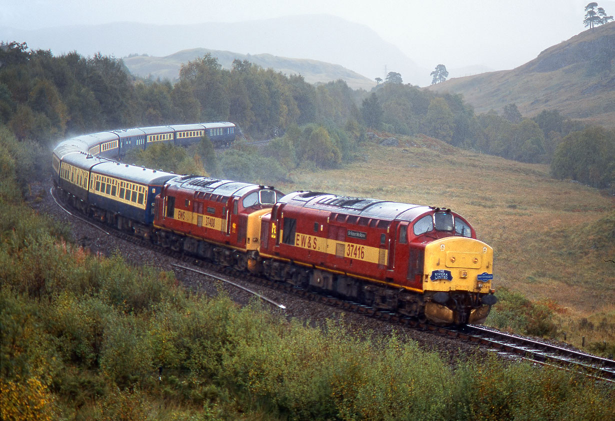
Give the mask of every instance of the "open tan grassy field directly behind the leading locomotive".
M 419 146 L 407 146 L 412 142 Z M 295 184 L 282 190 L 450 207 L 494 247 L 496 289 L 554 300 L 563 320 L 593 315 L 598 323 L 615 315 L 615 265 L 603 261 L 615 257 L 612 196 L 554 180 L 546 165 L 462 151 L 432 138 L 400 137 L 399 147 L 370 144 L 366 153 L 367 162 L 343 169 L 297 171 Z M 600 222 L 609 215 L 610 222 Z M 587 236 L 592 241 L 578 239 Z

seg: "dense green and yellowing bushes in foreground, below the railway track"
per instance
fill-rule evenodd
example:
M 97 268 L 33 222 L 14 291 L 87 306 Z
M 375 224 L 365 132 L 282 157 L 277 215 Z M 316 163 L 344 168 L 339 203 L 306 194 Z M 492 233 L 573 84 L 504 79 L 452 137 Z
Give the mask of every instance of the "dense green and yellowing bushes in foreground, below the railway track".
M 315 329 L 258 303 L 199 297 L 169 273 L 86 254 L 27 206 L 0 206 L 3 420 L 607 420 L 615 411 L 613 390 L 582 375 L 493 356 L 451 366 L 403 335 L 373 342 L 343 322 Z M 500 297 L 528 320 L 549 319 L 516 294 Z

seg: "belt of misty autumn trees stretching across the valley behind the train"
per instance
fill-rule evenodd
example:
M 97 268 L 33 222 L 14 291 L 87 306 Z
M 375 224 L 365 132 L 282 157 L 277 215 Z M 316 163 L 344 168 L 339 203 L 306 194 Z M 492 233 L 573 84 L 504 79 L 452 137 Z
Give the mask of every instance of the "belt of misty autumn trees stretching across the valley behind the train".
M 97 130 L 220 120 L 235 122 L 250 137 L 280 135 L 266 151 L 277 163 L 284 162 L 274 171 L 277 178 L 306 161 L 325 168 L 352 160 L 357 142 L 370 128 L 426 134 L 508 159 L 551 163 L 555 177 L 597 187 L 615 180 L 612 166 L 598 163 L 605 156 L 611 159 L 609 151 L 615 149 L 615 135 L 609 130 L 598 140 L 580 134 L 584 124 L 557 110 L 524 118 L 514 103 L 476 114 L 462 95 L 436 95 L 403 84 L 396 72 L 365 92 L 352 90 L 344 81 L 315 86 L 300 75 L 286 76 L 247 60 L 235 60 L 226 70 L 205 55 L 182 65 L 179 80 L 172 84 L 133 78 L 122 60 L 113 57 L 84 58 L 77 52 L 54 57 L 49 51 L 28 50 L 25 43 L 0 45 L 0 125 L 21 141 L 49 146 Z M 574 156 L 579 147 L 607 152 L 590 154 L 572 170 L 562 157 Z M 226 168 L 246 161 L 240 151 L 224 159 Z M 254 174 L 218 175 L 245 179 Z

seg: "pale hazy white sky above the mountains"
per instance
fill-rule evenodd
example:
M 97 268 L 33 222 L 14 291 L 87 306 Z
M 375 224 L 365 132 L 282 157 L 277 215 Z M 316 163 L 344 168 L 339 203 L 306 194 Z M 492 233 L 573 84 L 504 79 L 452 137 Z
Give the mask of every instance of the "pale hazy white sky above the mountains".
M 241 22 L 331 14 L 370 26 L 418 65 L 514 68 L 585 30 L 589 0 L 1 0 L 0 26 Z M 615 1 L 598 1 L 615 15 Z M 258 36 L 258 34 L 255 34 Z M 12 41 L 12 40 L 2 40 Z M 207 46 L 200 46 L 205 47 Z M 306 57 L 307 58 L 307 57 Z

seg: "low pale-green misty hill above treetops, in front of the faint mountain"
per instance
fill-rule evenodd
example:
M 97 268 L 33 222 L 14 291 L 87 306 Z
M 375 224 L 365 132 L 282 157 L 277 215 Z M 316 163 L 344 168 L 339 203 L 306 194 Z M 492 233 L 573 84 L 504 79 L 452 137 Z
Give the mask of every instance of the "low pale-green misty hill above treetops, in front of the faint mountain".
M 218 63 L 228 70 L 231 69 L 233 60 L 238 58 L 239 60 L 248 60 L 248 62 L 259 65 L 265 69 L 272 68 L 276 71 L 281 71 L 287 75 L 301 74 L 306 82 L 313 84 L 343 79 L 352 89 L 362 88 L 370 90 L 376 85 L 373 79 L 368 79 L 340 65 L 319 62 L 317 60 L 308 60 L 306 58 L 277 57 L 271 54 L 251 55 L 196 48 L 183 50 L 172 55 L 167 55 L 166 57 L 138 55 L 125 57 L 123 60 L 132 74 L 141 76 L 142 78 L 150 76 L 153 79 L 161 78 L 174 81 L 180 74 L 181 64 L 188 63 L 197 57 L 204 57 L 204 55 L 208 53 L 213 57 L 217 57 Z

